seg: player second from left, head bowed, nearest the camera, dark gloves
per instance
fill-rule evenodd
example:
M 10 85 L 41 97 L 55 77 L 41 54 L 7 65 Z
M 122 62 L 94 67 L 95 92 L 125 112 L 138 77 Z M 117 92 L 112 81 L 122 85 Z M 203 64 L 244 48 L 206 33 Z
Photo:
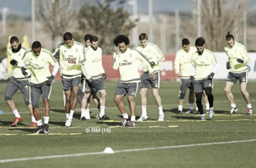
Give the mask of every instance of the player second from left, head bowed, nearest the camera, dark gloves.
M 51 95 L 51 83 L 55 78 L 57 71 L 59 70 L 59 64 L 53 57 L 53 54 L 44 48 L 42 48 L 40 42 L 36 41 L 32 44 L 32 49 L 27 50 L 21 60 L 22 74 L 26 73 L 24 62 L 29 62 L 31 66 L 32 77 L 30 79 L 31 87 L 31 99 L 34 117 L 38 128 L 35 134 L 49 134 L 49 117 L 50 117 L 50 95 Z M 50 73 L 49 64 L 54 65 L 53 73 Z M 44 127 L 42 127 L 41 113 L 39 110 L 39 101 L 42 94 L 43 103 L 43 115 L 44 115 Z

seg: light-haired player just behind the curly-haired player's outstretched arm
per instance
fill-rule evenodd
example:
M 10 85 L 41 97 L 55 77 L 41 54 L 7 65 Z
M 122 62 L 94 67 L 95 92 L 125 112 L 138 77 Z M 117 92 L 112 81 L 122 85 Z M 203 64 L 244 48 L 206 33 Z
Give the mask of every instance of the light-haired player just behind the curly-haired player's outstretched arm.
M 152 87 L 152 92 L 154 98 L 156 99 L 156 104 L 158 106 L 159 111 L 159 118 L 158 121 L 164 121 L 164 112 L 162 111 L 162 99 L 159 95 L 159 88 L 160 88 L 160 62 L 164 61 L 164 54 L 162 54 L 161 50 L 156 46 L 156 44 L 152 44 L 148 42 L 148 36 L 145 33 L 139 35 L 139 42 L 141 43 L 140 46 L 136 48 L 139 52 L 145 55 L 148 60 L 150 60 L 150 64 L 153 65 L 152 69 L 154 69 L 154 73 L 156 74 L 156 79 L 153 79 L 150 75 L 149 68 L 143 64 L 143 75 L 141 77 L 141 89 L 140 89 L 140 96 L 141 96 L 141 109 L 142 114 L 137 121 L 143 121 L 148 119 L 147 114 L 147 91 Z M 150 67 L 151 69 L 151 67 Z

